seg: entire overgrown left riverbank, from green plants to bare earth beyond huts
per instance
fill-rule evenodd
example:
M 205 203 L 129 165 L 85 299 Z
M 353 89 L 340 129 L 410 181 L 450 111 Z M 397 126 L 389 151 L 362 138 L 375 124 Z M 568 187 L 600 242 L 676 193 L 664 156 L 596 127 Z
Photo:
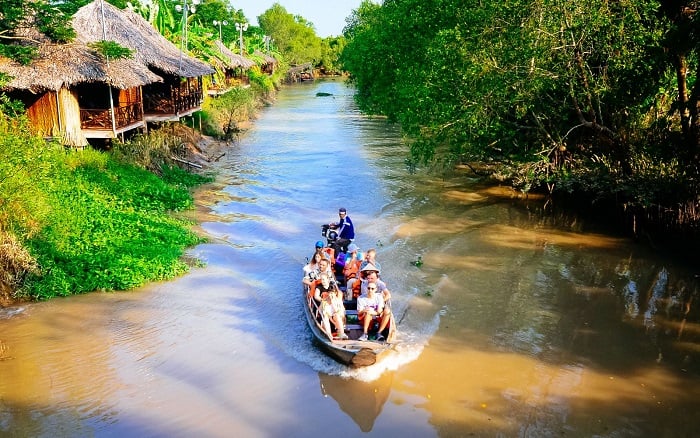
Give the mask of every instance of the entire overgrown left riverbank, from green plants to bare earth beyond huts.
M 227 114 L 225 140 L 176 123 L 109 152 L 37 148 L 21 121 L 0 114 L 0 307 L 130 290 L 187 272 L 185 249 L 206 239 L 184 213 L 193 206 L 191 188 L 213 178 L 215 164 L 275 94 L 239 90 L 237 99 L 210 105 L 199 126 L 204 119 L 211 129 L 215 116 Z

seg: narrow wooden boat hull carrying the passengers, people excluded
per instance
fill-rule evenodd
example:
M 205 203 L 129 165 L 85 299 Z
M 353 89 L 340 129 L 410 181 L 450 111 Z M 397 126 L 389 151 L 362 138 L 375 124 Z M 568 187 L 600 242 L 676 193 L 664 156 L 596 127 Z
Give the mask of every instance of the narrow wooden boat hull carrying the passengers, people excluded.
M 344 279 L 341 275 L 336 275 L 337 287 L 341 290 L 344 289 Z M 316 302 L 314 297 L 309 294 L 308 288 L 302 288 L 303 300 L 304 300 L 304 313 L 306 314 L 306 320 L 313 334 L 314 342 L 321 348 L 321 350 L 328 356 L 332 357 L 336 361 L 348 365 L 351 367 L 364 367 L 372 365 L 379 361 L 382 357 L 387 355 L 389 351 L 392 350 L 395 342 L 396 335 L 396 324 L 394 317 L 392 315 L 389 326 L 384 330 L 382 335 L 385 339 L 390 341 L 377 341 L 377 327 L 370 327 L 368 332 L 369 339 L 367 341 L 360 341 L 359 338 L 362 336 L 362 326 L 357 318 L 357 300 L 346 300 L 345 305 L 345 334 L 348 336 L 347 340 L 332 339 L 323 330 L 321 325 L 321 317 L 319 311 L 319 304 Z M 387 303 L 390 305 L 390 303 Z

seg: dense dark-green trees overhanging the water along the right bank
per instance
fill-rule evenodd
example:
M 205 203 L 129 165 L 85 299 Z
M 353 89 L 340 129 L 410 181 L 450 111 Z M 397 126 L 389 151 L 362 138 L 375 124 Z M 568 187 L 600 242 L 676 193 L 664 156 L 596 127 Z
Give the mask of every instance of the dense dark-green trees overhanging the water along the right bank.
M 415 163 L 486 161 L 523 190 L 685 210 L 700 189 L 696 3 L 364 1 L 342 62 Z

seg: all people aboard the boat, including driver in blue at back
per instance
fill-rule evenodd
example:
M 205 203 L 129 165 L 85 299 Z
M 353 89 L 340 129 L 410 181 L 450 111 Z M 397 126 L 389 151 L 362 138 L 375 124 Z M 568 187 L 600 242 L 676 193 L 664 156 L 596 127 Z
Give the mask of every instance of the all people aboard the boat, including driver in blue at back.
M 328 245 L 322 240 L 316 242 L 314 254 L 304 266 L 302 283 L 308 288 L 308 298 L 313 298 L 321 326 L 331 340 L 348 339 L 345 308 L 348 303 L 356 305 L 362 326 L 358 340 L 367 341 L 368 331 L 376 324 L 376 340 L 383 341 L 382 332 L 391 321 L 391 292 L 380 279 L 377 252 L 371 248 L 363 254 L 353 243 L 355 228 L 345 208 L 339 209 L 338 216 L 338 222 L 328 225 L 337 234 Z

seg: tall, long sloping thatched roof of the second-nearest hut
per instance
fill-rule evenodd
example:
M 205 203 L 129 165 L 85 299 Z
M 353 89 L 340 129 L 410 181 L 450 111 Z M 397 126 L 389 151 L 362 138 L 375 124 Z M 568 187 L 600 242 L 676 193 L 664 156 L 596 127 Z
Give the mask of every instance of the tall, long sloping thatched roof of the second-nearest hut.
M 73 16 L 72 24 L 78 41 L 102 41 L 101 5 L 104 5 L 107 40 L 135 50 L 134 58 L 137 61 L 164 73 L 188 78 L 214 73 L 208 64 L 181 53 L 177 46 L 137 13 L 99 0 L 83 6 Z

